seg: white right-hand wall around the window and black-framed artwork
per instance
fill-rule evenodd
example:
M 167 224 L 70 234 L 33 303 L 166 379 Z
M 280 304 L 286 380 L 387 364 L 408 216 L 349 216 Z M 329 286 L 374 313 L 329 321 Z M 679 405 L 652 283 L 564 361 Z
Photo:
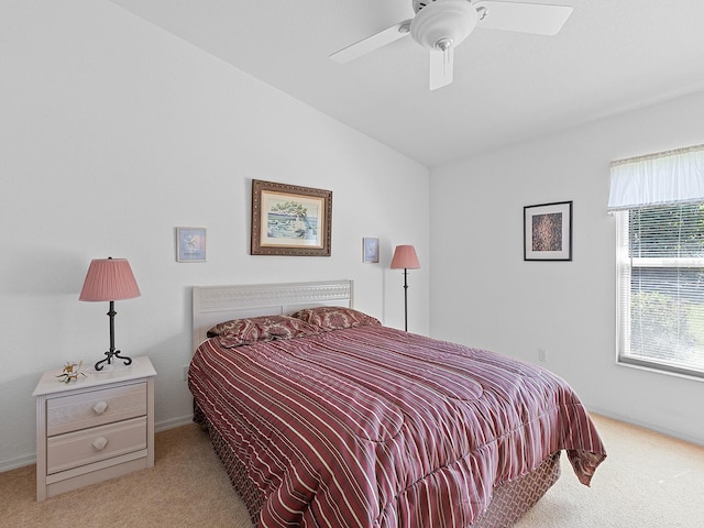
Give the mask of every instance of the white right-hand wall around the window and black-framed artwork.
M 704 143 L 704 94 L 431 172 L 431 334 L 538 363 L 588 408 L 704 444 L 704 383 L 615 364 L 608 164 Z M 522 208 L 574 201 L 572 262 L 522 261 Z

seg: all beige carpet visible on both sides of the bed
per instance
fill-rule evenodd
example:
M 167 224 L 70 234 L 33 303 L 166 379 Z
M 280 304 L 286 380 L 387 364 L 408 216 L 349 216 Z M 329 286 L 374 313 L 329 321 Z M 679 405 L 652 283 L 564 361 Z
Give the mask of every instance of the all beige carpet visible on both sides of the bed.
M 704 448 L 594 417 L 608 450 L 592 487 L 565 457 L 562 477 L 516 528 L 704 526 Z M 43 503 L 35 468 L 0 473 L 0 527 L 251 528 L 243 503 L 196 426 L 156 435 L 155 466 Z

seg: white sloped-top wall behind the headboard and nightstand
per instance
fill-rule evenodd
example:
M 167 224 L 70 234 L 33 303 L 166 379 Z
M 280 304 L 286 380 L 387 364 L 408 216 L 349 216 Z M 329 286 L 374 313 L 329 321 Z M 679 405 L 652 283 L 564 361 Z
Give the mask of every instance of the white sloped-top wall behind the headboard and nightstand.
M 91 258 L 132 264 L 116 344 L 151 356 L 162 428 L 190 414 L 191 285 L 353 278 L 355 306 L 403 328 L 388 264 L 399 243 L 428 262 L 427 168 L 107 1 L 2 2 L 0 57 L 0 470 L 34 458 L 41 373 L 108 348 L 107 304 L 78 301 Z M 332 256 L 249 255 L 253 178 L 331 189 Z M 208 229 L 207 263 L 175 262 L 177 226 Z

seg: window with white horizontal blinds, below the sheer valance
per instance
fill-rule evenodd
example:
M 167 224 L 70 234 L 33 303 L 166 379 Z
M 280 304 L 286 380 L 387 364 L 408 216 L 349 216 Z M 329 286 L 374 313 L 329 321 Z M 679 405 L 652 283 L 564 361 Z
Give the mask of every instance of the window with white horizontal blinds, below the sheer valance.
M 704 202 L 617 217 L 619 360 L 704 375 Z

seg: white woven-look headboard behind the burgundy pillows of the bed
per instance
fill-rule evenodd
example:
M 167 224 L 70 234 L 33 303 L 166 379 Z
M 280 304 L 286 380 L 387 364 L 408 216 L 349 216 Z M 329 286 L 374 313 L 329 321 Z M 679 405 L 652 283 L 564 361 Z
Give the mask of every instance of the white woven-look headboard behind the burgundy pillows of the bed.
M 230 319 L 293 314 L 314 306 L 353 307 L 352 280 L 194 286 L 194 351 L 209 328 Z

